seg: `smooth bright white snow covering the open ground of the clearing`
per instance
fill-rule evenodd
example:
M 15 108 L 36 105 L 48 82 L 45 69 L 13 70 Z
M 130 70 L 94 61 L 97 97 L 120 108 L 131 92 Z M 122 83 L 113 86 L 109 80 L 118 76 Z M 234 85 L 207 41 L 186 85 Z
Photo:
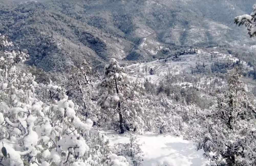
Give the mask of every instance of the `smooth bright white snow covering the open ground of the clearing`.
M 125 134 L 100 131 L 107 134 L 110 146 L 118 143 L 129 143 L 130 137 Z M 202 151 L 196 151 L 191 141 L 170 135 L 159 135 L 146 132 L 137 136 L 144 153 L 142 166 L 203 166 L 208 161 Z

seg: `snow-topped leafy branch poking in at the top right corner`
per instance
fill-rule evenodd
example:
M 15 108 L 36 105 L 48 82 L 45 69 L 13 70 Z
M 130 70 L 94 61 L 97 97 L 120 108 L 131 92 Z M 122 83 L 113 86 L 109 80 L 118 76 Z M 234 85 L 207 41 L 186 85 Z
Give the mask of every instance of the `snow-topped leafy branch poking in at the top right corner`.
M 244 14 L 237 16 L 234 19 L 234 23 L 238 26 L 245 25 L 250 38 L 256 35 L 256 4 L 252 6 L 252 13 L 250 15 Z

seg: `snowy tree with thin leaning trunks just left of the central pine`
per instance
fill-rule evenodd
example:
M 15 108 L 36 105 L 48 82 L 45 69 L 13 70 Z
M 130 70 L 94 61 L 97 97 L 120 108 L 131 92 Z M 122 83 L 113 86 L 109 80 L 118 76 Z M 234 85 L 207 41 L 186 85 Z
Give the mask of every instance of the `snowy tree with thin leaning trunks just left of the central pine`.
M 83 61 L 82 67 L 72 66 L 65 73 L 65 82 L 62 87 L 67 89 L 66 94 L 75 101 L 79 107 L 77 109 L 81 115 L 90 118 L 94 125 L 99 125 L 101 121 L 100 108 L 97 106 L 97 90 L 93 87 L 92 80 L 97 79 L 91 71 L 91 67 Z

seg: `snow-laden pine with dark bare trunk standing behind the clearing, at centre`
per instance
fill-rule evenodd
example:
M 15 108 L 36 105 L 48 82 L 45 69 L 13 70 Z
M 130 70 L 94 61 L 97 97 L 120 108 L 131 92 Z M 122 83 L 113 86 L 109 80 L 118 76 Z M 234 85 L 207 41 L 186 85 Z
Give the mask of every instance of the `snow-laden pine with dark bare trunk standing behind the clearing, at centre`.
M 123 67 L 112 58 L 105 65 L 104 78 L 97 85 L 102 116 L 111 128 L 124 133 L 126 130 L 143 132 L 143 96 L 145 89 L 138 80 L 128 78 Z

